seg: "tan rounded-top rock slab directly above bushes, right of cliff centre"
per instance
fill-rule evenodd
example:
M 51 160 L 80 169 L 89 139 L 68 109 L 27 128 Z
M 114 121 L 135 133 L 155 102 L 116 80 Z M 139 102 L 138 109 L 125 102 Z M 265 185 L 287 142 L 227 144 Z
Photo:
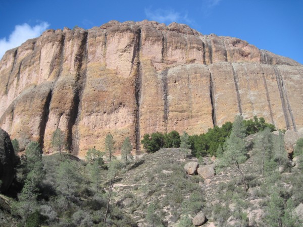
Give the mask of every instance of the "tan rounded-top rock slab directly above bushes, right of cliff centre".
M 169 69 L 167 74 L 169 118 L 167 131 L 189 134 L 212 128 L 210 72 L 200 64 Z

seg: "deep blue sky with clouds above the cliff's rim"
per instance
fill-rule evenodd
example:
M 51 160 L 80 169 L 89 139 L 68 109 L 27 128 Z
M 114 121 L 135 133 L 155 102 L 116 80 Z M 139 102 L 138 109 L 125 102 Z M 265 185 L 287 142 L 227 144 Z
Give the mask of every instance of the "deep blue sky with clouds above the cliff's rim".
M 147 19 L 237 37 L 303 64 L 302 12 L 302 0 L 0 0 L 0 58 L 46 28 Z

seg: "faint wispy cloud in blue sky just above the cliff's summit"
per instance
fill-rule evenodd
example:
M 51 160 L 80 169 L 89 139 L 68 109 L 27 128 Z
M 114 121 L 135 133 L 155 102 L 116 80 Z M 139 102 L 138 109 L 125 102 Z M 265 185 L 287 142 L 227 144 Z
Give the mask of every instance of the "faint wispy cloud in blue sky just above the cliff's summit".
M 170 24 L 172 22 L 186 23 L 186 24 L 194 23 L 194 21 L 188 17 L 187 13 L 181 14 L 172 9 L 168 9 L 168 10 L 157 9 L 155 11 L 152 11 L 149 8 L 149 9 L 145 9 L 145 15 L 148 20 L 157 21 L 165 24 Z

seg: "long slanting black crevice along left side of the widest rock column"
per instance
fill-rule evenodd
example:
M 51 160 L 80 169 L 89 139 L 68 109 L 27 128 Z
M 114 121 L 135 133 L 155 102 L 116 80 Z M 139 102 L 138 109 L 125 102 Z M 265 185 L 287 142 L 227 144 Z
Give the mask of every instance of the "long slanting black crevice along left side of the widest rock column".
M 79 53 L 75 59 L 76 68 L 76 91 L 73 100 L 73 106 L 71 109 L 71 116 L 68 122 L 68 133 L 67 133 L 67 143 L 69 150 L 72 154 L 77 155 L 79 152 L 79 121 L 81 116 L 82 108 L 82 96 L 86 84 L 86 70 L 87 70 L 87 32 L 84 32 L 81 44 L 79 47 Z

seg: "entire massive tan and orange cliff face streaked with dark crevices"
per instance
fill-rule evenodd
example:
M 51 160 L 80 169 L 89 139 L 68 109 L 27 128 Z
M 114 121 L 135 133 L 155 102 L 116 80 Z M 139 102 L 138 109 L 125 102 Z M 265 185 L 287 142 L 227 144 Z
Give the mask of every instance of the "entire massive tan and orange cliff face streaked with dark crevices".
M 58 127 L 79 157 L 108 133 L 139 150 L 145 133 L 200 134 L 237 113 L 303 128 L 302 65 L 176 23 L 47 30 L 6 52 L 0 81 L 0 127 L 46 153 Z

